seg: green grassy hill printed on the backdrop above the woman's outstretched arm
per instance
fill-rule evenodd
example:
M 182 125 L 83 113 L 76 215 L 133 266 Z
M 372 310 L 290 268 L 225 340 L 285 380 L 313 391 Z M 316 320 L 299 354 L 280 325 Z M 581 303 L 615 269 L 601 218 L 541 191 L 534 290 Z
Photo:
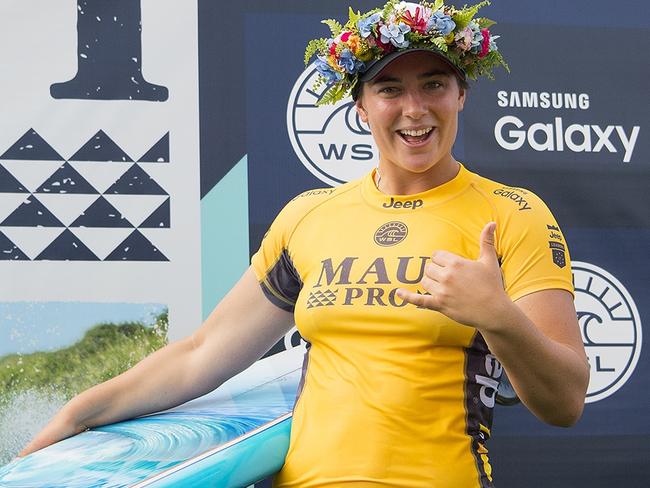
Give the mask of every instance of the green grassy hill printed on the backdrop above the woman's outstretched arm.
M 167 311 L 152 326 L 102 323 L 77 343 L 51 352 L 0 357 L 0 408 L 15 395 L 55 391 L 66 399 L 126 371 L 167 341 Z

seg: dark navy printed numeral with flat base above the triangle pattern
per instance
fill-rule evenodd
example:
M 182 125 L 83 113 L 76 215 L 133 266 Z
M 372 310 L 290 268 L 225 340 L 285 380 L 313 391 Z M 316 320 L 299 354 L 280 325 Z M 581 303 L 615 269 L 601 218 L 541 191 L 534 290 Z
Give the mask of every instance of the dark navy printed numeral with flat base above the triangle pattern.
M 164 102 L 166 87 L 142 76 L 140 0 L 77 0 L 77 74 L 53 98 Z

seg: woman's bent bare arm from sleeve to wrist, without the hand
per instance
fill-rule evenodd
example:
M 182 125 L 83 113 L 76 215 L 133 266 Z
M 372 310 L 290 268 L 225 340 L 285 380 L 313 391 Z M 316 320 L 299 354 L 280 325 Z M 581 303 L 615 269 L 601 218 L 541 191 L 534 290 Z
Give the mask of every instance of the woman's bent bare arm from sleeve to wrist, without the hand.
M 521 401 L 549 424 L 575 424 L 584 407 L 589 363 L 571 294 L 543 290 L 514 304 L 504 301 L 499 321 L 481 333 Z

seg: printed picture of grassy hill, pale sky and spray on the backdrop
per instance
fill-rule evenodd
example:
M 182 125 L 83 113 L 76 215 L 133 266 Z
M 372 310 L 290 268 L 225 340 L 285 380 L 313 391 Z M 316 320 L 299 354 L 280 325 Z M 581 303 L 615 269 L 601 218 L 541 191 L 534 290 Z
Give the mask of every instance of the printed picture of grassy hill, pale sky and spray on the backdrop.
M 0 466 L 73 396 L 164 346 L 167 328 L 161 304 L 0 303 Z

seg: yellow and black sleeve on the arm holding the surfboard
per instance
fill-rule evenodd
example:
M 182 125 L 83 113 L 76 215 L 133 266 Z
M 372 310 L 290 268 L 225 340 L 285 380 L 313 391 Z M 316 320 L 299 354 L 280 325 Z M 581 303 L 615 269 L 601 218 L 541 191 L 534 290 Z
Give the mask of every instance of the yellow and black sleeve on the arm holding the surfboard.
M 288 245 L 297 221 L 296 209 L 289 202 L 275 218 L 260 248 L 251 258 L 253 271 L 264 295 L 287 312 L 294 311 L 302 288 L 302 280 L 293 264 Z

